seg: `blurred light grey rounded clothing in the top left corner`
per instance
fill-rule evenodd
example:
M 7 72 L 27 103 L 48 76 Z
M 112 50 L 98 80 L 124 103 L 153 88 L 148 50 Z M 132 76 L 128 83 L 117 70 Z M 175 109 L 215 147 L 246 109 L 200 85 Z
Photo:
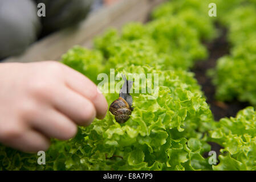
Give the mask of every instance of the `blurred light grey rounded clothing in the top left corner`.
M 37 38 L 40 20 L 31 0 L 0 0 L 0 59 L 24 51 Z

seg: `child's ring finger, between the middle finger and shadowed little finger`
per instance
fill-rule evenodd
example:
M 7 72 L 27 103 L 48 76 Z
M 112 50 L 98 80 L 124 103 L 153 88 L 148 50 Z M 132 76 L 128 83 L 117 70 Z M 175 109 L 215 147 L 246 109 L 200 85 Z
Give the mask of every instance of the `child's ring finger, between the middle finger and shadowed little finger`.
M 54 108 L 42 110 L 36 117 L 30 118 L 29 122 L 33 129 L 49 138 L 66 140 L 74 137 L 77 132 L 75 123 Z

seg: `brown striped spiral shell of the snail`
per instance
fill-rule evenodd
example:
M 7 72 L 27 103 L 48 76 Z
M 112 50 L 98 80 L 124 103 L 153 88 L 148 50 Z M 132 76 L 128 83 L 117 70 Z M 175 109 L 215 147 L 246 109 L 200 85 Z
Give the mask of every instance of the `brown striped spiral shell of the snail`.
M 112 102 L 109 111 L 115 115 L 115 119 L 119 123 L 126 122 L 132 114 L 129 104 L 122 97 Z

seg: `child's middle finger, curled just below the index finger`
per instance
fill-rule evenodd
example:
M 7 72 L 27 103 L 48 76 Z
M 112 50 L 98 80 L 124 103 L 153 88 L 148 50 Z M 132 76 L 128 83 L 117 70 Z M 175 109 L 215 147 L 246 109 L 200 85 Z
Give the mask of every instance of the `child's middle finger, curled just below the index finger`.
M 56 95 L 51 98 L 53 106 L 76 124 L 88 126 L 94 121 L 96 110 L 90 100 L 65 87 Z

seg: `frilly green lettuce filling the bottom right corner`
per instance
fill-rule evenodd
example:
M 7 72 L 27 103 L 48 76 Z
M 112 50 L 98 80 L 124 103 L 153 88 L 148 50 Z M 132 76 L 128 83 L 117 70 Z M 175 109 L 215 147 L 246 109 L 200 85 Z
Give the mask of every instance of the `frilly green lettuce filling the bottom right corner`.
M 221 144 L 220 164 L 214 170 L 255 170 L 256 112 L 247 107 L 235 118 L 223 118 L 217 129 L 210 131 L 210 140 Z

